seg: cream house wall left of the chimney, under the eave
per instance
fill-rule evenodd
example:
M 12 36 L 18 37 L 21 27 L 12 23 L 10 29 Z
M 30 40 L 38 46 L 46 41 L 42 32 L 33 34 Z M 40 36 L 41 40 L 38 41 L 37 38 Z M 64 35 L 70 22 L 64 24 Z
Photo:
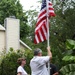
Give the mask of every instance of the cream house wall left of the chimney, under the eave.
M 5 49 L 5 31 L 0 30 L 0 52 Z

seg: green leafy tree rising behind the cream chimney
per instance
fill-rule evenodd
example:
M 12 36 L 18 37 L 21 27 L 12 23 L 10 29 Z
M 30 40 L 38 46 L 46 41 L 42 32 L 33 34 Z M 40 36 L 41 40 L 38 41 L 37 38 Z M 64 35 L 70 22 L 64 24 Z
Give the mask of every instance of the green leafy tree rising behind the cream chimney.
M 29 33 L 29 26 L 27 25 L 26 13 L 23 12 L 19 0 L 0 0 L 0 23 L 3 25 L 4 19 L 10 16 L 20 19 L 21 38 L 26 38 Z

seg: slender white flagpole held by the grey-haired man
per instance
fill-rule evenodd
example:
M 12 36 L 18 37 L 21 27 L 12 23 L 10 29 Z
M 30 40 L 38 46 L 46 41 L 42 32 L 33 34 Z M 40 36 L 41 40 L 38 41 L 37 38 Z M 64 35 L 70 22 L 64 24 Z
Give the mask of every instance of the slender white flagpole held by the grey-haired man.
M 47 47 L 49 47 L 49 8 L 48 8 L 48 0 L 46 0 L 46 8 L 47 8 Z M 50 61 L 48 62 L 48 72 L 50 75 Z

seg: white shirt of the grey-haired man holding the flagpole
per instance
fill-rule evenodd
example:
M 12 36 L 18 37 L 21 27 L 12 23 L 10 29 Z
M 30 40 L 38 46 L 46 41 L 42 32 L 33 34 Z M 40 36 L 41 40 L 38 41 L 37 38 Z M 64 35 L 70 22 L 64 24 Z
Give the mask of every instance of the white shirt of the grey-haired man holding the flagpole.
M 49 75 L 46 63 L 50 60 L 49 56 L 35 56 L 30 61 L 31 75 Z

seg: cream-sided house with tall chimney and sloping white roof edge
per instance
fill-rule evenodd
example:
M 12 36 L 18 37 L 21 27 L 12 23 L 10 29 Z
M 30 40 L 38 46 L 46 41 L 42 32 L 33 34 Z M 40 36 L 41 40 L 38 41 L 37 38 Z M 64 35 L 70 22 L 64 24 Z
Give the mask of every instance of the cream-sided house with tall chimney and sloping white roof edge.
M 6 18 L 4 20 L 4 27 L 0 25 L 0 52 L 10 48 L 30 49 L 22 40 L 20 40 L 20 20 L 15 18 Z

